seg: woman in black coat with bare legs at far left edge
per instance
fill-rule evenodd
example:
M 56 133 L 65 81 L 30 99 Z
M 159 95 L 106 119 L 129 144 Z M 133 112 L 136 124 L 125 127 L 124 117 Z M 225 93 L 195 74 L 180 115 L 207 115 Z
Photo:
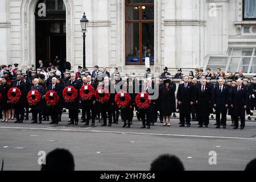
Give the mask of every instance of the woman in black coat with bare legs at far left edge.
M 2 84 L 0 85 L 0 93 L 2 94 L 1 105 L 0 105 L 3 113 L 2 122 L 8 122 L 8 119 L 9 119 L 10 105 L 9 105 L 9 99 L 7 97 L 7 93 L 10 88 L 11 86 L 7 84 L 7 78 L 2 77 Z

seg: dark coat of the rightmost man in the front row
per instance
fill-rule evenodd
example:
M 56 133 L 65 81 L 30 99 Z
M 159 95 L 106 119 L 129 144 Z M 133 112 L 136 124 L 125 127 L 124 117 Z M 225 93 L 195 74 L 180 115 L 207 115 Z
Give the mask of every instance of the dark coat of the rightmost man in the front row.
M 233 105 L 233 115 L 235 117 L 243 117 L 245 114 L 245 109 L 243 106 L 248 106 L 248 96 L 246 89 L 242 86 L 241 90 L 237 90 L 237 86 L 232 88 L 232 96 L 231 96 L 231 103 Z

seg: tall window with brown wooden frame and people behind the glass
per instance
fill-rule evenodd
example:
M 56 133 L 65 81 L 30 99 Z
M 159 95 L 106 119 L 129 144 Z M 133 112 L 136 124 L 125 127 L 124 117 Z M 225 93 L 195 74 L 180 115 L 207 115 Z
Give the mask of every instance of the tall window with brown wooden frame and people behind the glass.
M 126 64 L 154 64 L 154 0 L 126 0 L 125 34 Z

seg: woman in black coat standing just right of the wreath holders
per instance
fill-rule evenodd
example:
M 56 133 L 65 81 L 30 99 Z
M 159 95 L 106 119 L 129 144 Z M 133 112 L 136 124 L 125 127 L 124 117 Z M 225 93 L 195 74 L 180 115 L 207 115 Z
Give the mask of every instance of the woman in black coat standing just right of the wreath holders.
M 161 107 L 164 117 L 163 126 L 171 126 L 170 117 L 172 115 L 172 105 L 175 100 L 174 88 L 170 86 L 170 80 L 164 80 L 164 86 L 161 90 Z M 166 118 L 168 117 L 168 125 L 166 123 Z

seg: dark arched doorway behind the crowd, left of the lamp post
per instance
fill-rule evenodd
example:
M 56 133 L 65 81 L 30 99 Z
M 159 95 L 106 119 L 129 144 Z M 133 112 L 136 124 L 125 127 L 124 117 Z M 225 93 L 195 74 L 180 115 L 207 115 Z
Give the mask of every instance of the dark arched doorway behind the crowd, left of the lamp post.
M 64 1 L 39 0 L 35 9 L 36 66 L 39 60 L 42 60 L 44 65 L 48 66 L 49 63 L 55 61 L 56 56 L 64 61 L 67 57 L 66 44 L 66 9 Z

